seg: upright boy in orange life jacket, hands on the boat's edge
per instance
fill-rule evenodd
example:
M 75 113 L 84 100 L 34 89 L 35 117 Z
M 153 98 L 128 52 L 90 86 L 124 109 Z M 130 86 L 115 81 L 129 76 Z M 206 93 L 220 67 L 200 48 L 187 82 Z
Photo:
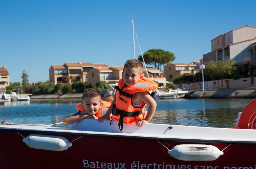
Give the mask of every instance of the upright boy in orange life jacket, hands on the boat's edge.
M 143 65 L 136 59 L 127 60 L 124 64 L 123 78 L 116 86 L 116 97 L 107 113 L 98 118 L 104 121 L 111 113 L 118 122 L 119 129 L 123 129 L 123 123 L 134 124 L 141 127 L 148 123 L 156 110 L 156 101 L 149 95 L 158 85 L 143 77 Z M 148 113 L 143 112 L 145 104 L 148 105 Z

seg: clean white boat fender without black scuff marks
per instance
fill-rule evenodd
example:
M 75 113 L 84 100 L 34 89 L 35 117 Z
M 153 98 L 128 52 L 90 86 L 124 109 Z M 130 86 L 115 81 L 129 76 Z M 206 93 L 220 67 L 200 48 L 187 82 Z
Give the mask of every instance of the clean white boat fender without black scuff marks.
M 22 140 L 33 149 L 51 150 L 51 151 L 63 151 L 72 146 L 65 137 L 31 134 Z

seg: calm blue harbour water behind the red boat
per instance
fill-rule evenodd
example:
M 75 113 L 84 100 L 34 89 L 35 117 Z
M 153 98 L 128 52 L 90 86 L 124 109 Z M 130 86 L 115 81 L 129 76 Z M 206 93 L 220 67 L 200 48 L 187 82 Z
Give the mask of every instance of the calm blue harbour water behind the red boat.
M 236 125 L 238 112 L 252 99 L 157 100 L 152 123 L 206 127 Z M 80 99 L 48 99 L 0 103 L 0 120 L 12 123 L 52 124 L 76 113 Z

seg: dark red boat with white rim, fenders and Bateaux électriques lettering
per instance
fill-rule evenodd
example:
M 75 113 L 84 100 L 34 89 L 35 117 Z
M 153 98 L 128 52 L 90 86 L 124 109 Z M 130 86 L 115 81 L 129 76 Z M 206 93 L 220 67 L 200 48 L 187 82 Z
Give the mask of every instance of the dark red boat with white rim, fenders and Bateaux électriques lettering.
M 0 168 L 255 169 L 256 99 L 235 128 L 143 127 L 85 119 L 68 128 L 0 125 Z

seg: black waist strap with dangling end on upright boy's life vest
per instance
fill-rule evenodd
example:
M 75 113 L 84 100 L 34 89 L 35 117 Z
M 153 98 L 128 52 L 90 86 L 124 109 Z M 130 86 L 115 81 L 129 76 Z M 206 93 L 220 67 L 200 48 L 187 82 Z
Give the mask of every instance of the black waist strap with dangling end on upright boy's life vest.
M 113 115 L 120 115 L 120 118 L 119 118 L 119 121 L 118 121 L 118 127 L 120 129 L 120 131 L 123 130 L 124 128 L 124 117 L 135 117 L 135 116 L 138 116 L 140 114 L 142 114 L 142 109 L 138 112 L 126 112 L 124 110 L 119 110 L 119 109 L 116 109 L 116 105 L 114 104 L 113 105 L 113 108 L 112 108 L 112 114 Z

